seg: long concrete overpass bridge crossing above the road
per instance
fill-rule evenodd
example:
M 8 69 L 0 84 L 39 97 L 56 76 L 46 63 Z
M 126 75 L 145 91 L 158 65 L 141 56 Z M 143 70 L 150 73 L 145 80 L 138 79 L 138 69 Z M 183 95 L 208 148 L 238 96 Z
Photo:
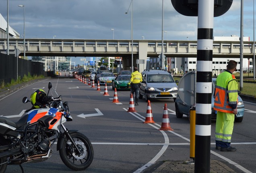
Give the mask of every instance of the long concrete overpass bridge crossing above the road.
M 162 40 L 92 40 L 92 39 L 25 39 L 26 56 L 122 56 L 123 62 L 131 66 L 133 52 L 136 59 L 158 57 L 162 52 Z M 244 58 L 253 57 L 252 41 L 244 42 Z M 7 49 L 6 38 L 0 38 L 0 50 Z M 9 50 L 19 49 L 23 56 L 23 39 L 10 38 Z M 202 48 L 200 48 L 202 49 Z M 203 49 L 208 49 L 205 47 Z M 239 41 L 213 41 L 213 58 L 239 58 Z M 164 40 L 163 53 L 166 57 L 196 57 L 196 40 Z M 134 64 L 135 66 L 135 64 Z

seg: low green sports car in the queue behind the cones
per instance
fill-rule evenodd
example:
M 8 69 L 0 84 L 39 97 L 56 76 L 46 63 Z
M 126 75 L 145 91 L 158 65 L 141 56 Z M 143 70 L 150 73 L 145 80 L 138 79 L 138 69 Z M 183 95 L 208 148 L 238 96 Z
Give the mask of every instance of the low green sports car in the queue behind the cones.
M 119 75 L 116 79 L 112 79 L 112 89 L 114 90 L 130 90 L 127 84 L 131 78 L 131 75 L 123 74 Z

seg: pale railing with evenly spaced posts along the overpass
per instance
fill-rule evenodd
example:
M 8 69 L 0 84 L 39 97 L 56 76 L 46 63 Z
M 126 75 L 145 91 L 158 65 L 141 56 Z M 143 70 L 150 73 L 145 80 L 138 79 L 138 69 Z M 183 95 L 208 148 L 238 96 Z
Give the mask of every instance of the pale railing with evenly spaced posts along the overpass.
M 130 53 L 131 40 L 92 40 L 92 39 L 45 39 L 27 38 L 26 53 L 30 52 L 123 52 Z M 133 40 L 133 52 L 138 53 L 139 44 L 147 43 L 148 54 L 159 54 L 161 52 L 161 40 Z M 250 56 L 253 53 L 253 42 L 244 42 L 244 55 Z M 10 38 L 9 49 L 23 51 L 22 38 Z M 196 40 L 164 40 L 163 52 L 165 54 L 186 54 L 195 55 L 197 52 Z M 6 38 L 0 38 L 0 50 L 7 49 Z M 213 41 L 213 54 L 229 54 L 238 56 L 240 53 L 239 41 Z

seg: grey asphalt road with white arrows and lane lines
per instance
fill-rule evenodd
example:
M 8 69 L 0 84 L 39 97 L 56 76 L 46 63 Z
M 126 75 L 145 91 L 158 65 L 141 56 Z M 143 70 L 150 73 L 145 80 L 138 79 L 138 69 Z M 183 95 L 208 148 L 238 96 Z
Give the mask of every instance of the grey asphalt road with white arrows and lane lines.
M 17 121 L 22 111 L 31 107 L 23 104 L 23 97 L 30 97 L 36 89 L 48 91 L 51 81 L 53 88 L 64 101 L 68 101 L 72 122 L 66 122 L 68 129 L 77 129 L 86 135 L 94 147 L 93 163 L 86 173 L 132 173 L 141 172 L 156 161 L 191 160 L 190 159 L 190 123 L 187 117 L 177 119 L 173 99 L 152 100 L 154 124 L 144 124 L 147 112 L 145 99 L 135 106 L 136 113 L 128 113 L 130 103 L 129 91 L 118 91 L 120 103 L 112 103 L 114 91 L 107 87 L 109 96 L 103 96 L 105 86 L 97 91 L 76 78 L 64 76 L 42 80 L 0 99 L 0 116 L 9 116 Z M 44 88 L 43 88 L 44 87 Z M 163 107 L 167 103 L 170 126 L 173 131 L 159 131 L 163 120 Z M 215 122 L 212 121 L 211 159 L 227 161 L 239 170 L 254 172 L 256 170 L 256 133 L 255 103 L 245 102 L 246 113 L 242 123 L 235 123 L 231 145 L 235 152 L 215 150 Z M 53 148 L 52 157 L 41 163 L 23 164 L 26 172 L 68 173 L 58 151 Z M 21 172 L 18 165 L 8 165 L 6 173 Z M 241 171 L 242 172 L 242 171 Z

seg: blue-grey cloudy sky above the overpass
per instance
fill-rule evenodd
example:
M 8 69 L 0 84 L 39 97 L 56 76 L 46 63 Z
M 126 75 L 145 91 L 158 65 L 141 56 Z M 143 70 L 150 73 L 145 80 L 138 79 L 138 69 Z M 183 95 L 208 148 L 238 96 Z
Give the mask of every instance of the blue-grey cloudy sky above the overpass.
M 26 38 L 58 39 L 162 39 L 162 0 L 8 0 L 9 25 L 23 34 L 25 5 Z M 254 0 L 244 0 L 244 36 L 254 38 Z M 129 10 L 128 10 L 129 8 Z M 128 12 L 128 14 L 126 14 Z M 7 0 L 1 0 L 0 13 L 7 20 Z M 183 16 L 163 0 L 164 40 L 196 40 L 197 17 Z M 241 0 L 214 18 L 213 36 L 240 36 Z M 111 30 L 114 29 L 114 30 Z M 73 58 L 72 58 L 73 59 Z M 76 58 L 80 60 L 79 57 Z M 79 62 L 78 62 L 79 63 Z

